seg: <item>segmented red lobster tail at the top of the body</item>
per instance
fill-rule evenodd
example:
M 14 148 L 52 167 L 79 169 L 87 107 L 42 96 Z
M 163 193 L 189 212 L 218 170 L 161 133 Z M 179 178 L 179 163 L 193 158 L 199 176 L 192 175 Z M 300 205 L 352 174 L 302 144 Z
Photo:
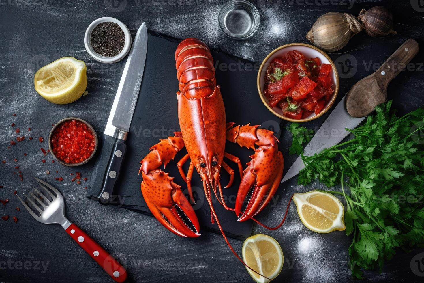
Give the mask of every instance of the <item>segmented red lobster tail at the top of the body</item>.
M 204 98 L 213 94 L 215 68 L 209 48 L 200 40 L 187 38 L 175 51 L 179 89 L 187 98 Z

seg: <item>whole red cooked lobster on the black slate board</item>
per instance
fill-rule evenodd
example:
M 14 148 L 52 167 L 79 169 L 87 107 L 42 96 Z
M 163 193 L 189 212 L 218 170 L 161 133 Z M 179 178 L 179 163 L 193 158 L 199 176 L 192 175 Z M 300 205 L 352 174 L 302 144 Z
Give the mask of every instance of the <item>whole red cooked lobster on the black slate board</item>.
M 217 196 L 219 190 L 221 204 L 226 209 L 234 210 L 239 216 L 238 221 L 254 217 L 268 204 L 279 186 L 283 156 L 272 131 L 260 129 L 259 125 L 234 126 L 234 123 L 226 123 L 212 55 L 203 42 L 195 38 L 184 39 L 175 51 L 175 59 L 180 90 L 177 99 L 181 132 L 160 140 L 141 160 L 141 191 L 153 215 L 168 230 L 185 237 L 200 235 L 197 216 L 182 193 L 181 186 L 160 168 L 162 164 L 165 168 L 185 146 L 187 154 L 177 166 L 181 177 L 187 182 L 190 199 L 193 201 L 190 180 L 195 169 L 203 182 L 212 222 L 216 220 L 223 234 L 212 206 L 212 193 Z M 254 150 L 244 171 L 239 158 L 225 152 L 226 140 Z M 221 168 L 230 174 L 229 184 L 225 188 L 231 186 L 234 180 L 234 170 L 223 160 L 224 157 L 237 163 L 241 177 L 234 209 L 227 207 L 222 198 Z M 190 166 L 185 174 L 182 166 L 188 160 Z M 251 197 L 246 199 L 248 195 Z

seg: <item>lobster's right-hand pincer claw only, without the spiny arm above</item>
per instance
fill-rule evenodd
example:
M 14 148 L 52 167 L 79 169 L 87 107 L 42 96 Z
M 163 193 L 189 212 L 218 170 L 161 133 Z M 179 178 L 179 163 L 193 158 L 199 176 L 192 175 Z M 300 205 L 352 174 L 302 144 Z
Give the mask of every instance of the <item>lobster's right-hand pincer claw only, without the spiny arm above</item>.
M 235 205 L 239 219 L 246 221 L 257 215 L 274 196 L 283 174 L 283 157 L 272 147 L 255 149 L 240 182 Z M 274 155 L 275 154 L 275 155 Z M 270 158 L 275 156 L 273 158 Z M 240 215 L 241 214 L 241 215 Z

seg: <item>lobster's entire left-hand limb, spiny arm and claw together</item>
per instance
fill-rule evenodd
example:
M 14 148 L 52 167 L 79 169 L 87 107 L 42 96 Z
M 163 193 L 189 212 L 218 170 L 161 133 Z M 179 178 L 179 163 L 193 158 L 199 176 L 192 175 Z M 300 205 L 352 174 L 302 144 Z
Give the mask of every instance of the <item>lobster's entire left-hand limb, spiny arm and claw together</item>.
M 139 173 L 143 177 L 141 191 L 153 216 L 168 230 L 184 237 L 198 237 L 199 221 L 181 186 L 159 169 L 162 164 L 166 167 L 182 148 L 184 141 L 179 133 L 151 147 L 151 151 L 140 161 Z

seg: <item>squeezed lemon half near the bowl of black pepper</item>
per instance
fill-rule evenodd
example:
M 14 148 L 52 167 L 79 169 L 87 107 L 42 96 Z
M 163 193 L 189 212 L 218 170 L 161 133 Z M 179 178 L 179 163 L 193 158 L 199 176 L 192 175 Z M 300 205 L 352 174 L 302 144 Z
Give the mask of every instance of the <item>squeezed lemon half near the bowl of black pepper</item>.
M 74 102 L 87 87 L 87 67 L 84 61 L 63 57 L 42 67 L 34 77 L 35 90 L 56 104 Z

